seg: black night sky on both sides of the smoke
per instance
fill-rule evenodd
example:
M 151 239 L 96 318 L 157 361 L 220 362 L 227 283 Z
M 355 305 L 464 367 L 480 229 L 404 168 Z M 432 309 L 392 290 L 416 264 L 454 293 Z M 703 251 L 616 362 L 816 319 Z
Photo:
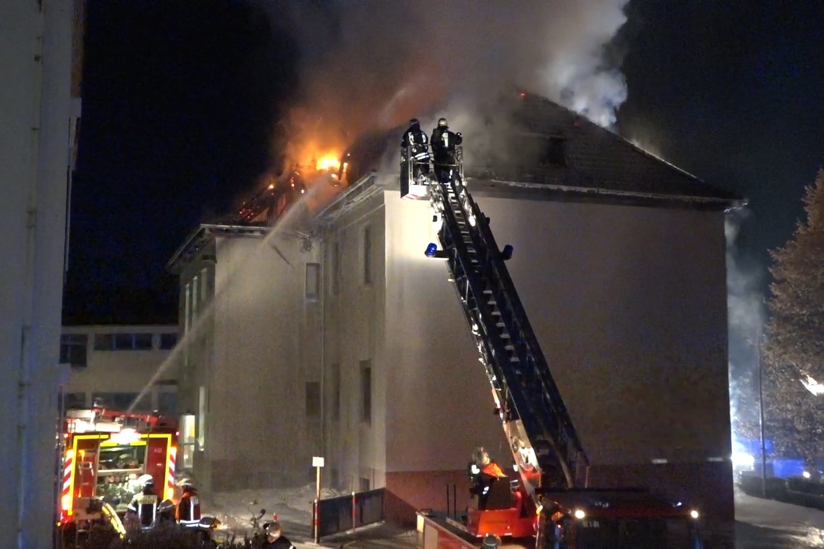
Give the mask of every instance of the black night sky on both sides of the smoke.
M 824 160 L 824 32 L 817 2 L 751 3 L 631 0 L 613 50 L 620 133 L 750 199 L 758 272 Z M 89 2 L 64 322 L 176 322 L 166 262 L 269 168 L 297 52 L 246 2 Z

